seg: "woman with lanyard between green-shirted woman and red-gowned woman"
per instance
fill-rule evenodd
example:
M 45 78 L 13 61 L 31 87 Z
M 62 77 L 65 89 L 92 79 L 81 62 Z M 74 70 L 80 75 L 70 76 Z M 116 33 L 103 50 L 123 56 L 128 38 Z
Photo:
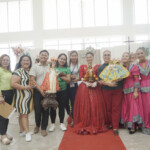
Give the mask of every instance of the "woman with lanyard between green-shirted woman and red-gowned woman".
M 68 99 L 67 99 L 67 110 L 68 114 L 73 118 L 73 107 L 74 107 L 74 100 L 76 91 L 78 88 L 78 81 L 79 81 L 79 67 L 78 64 L 78 53 L 77 51 L 71 51 L 70 52 L 70 61 L 69 61 L 69 67 L 71 70 L 71 82 L 67 84 L 67 92 L 68 92 Z M 71 102 L 71 108 L 69 106 L 69 100 Z M 70 124 L 71 127 L 73 127 L 73 120 Z

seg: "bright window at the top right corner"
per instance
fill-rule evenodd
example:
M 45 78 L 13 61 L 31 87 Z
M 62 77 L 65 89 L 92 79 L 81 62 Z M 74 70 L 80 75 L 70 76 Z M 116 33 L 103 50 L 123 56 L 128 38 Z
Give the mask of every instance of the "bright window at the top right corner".
M 134 0 L 135 24 L 150 23 L 150 0 Z

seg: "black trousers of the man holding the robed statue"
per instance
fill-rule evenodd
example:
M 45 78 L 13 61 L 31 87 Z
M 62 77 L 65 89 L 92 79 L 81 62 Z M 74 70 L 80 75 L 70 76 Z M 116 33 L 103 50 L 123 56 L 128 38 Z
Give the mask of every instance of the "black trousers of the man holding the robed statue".
M 34 89 L 33 101 L 34 101 L 34 111 L 35 111 L 35 123 L 37 127 L 41 126 L 42 130 L 46 130 L 48 126 L 48 118 L 49 118 L 49 109 L 44 110 L 41 106 L 41 101 L 44 97 L 41 93 Z

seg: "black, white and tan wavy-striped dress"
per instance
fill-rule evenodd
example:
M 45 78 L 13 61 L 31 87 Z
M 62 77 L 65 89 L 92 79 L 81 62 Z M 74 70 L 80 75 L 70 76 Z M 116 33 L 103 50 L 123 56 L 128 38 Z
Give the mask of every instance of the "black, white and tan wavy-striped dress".
M 29 73 L 23 68 L 17 69 L 13 72 L 21 78 L 20 85 L 29 85 Z M 33 90 L 18 90 L 14 92 L 13 106 L 18 113 L 29 114 L 33 110 Z

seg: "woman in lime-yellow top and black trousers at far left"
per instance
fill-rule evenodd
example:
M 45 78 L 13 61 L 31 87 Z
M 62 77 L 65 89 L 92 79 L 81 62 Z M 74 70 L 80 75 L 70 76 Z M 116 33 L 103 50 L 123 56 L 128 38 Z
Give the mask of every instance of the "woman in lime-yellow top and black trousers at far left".
M 12 104 L 13 90 L 11 88 L 10 57 L 6 54 L 0 57 L 0 104 L 7 102 Z M 0 116 L 0 134 L 3 144 L 8 145 L 12 137 L 7 134 L 9 120 Z

